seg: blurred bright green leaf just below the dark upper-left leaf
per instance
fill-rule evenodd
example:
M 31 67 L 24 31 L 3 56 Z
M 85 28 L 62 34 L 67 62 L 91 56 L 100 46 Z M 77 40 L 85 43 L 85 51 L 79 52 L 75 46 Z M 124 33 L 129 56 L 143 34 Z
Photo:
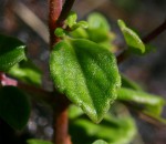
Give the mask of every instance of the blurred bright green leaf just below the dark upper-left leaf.
M 15 64 L 9 70 L 8 74 L 28 84 L 38 86 L 42 84 L 42 73 L 30 60 Z

